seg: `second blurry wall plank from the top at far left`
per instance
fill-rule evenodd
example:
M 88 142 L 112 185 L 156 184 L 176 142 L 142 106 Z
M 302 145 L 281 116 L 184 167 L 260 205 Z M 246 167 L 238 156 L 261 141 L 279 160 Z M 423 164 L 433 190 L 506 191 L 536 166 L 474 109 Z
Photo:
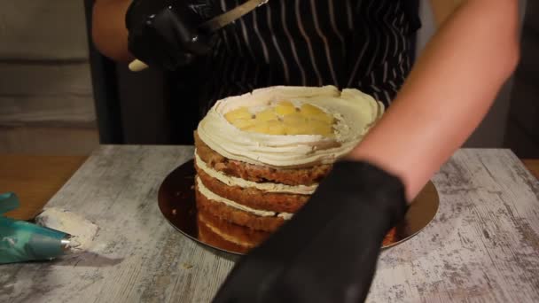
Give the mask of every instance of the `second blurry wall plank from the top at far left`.
M 88 63 L 0 64 L 0 127 L 94 125 Z

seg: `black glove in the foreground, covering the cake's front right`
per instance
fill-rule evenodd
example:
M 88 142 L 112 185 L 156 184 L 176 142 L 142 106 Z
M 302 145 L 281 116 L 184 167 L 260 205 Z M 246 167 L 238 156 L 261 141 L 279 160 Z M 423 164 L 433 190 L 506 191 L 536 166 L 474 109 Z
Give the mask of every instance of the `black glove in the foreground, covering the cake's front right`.
M 291 221 L 239 260 L 215 302 L 363 301 L 382 240 L 407 208 L 398 178 L 338 162 Z

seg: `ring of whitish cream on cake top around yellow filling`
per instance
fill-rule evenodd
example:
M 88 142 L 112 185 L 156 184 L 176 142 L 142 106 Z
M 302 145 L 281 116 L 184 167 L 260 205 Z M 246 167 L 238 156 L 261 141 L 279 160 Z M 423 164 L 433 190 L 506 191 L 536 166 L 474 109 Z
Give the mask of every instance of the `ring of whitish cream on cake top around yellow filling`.
M 241 106 L 268 106 L 282 100 L 316 105 L 332 114 L 337 120 L 335 136 L 249 133 L 224 118 L 224 113 Z M 198 134 L 228 159 L 269 167 L 311 167 L 332 163 L 351 151 L 383 112 L 384 105 L 357 89 L 277 86 L 217 101 L 200 121 Z

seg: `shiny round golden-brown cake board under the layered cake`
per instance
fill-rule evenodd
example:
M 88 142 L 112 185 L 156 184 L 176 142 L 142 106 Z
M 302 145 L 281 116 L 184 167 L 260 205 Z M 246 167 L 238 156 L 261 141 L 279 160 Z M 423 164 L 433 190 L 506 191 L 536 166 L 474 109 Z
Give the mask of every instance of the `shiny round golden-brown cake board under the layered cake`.
M 241 255 L 242 253 L 230 251 L 218 245 L 207 244 L 199 238 L 194 190 L 195 174 L 194 163 L 191 159 L 176 167 L 165 178 L 158 193 L 161 213 L 175 229 L 191 240 L 217 251 Z M 429 182 L 410 206 L 404 221 L 396 226 L 395 241 L 382 248 L 399 245 L 417 235 L 434 219 L 438 206 L 438 193 L 434 184 Z

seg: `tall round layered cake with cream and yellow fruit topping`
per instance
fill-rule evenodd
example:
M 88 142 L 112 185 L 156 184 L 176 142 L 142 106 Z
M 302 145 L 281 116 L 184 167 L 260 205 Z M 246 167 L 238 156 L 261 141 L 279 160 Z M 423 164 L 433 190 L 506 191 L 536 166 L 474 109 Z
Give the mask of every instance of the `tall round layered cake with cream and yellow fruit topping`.
M 371 96 L 332 86 L 256 89 L 218 101 L 195 132 L 199 239 L 238 253 L 260 244 L 382 113 Z

